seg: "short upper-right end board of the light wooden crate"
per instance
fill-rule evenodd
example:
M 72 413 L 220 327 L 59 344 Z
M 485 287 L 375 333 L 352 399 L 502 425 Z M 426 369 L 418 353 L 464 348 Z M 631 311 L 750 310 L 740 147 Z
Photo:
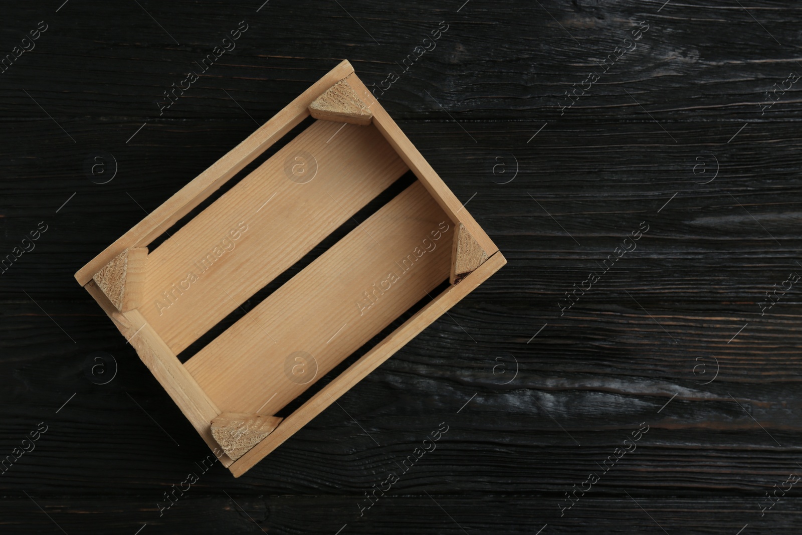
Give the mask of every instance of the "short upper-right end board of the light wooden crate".
M 429 162 L 423 158 L 423 155 L 415 148 L 415 145 L 407 138 L 407 135 L 401 131 L 398 124 L 392 120 L 391 116 L 382 107 L 378 100 L 371 95 L 362 80 L 357 75 L 352 74 L 347 77 L 347 82 L 354 88 L 356 94 L 363 100 L 365 106 L 373 113 L 373 124 L 382 132 L 382 135 L 387 139 L 395 151 L 399 153 L 401 159 L 409 166 L 415 176 L 418 177 L 424 186 L 426 186 L 432 197 L 435 197 L 444 209 L 445 213 L 452 221 L 460 222 L 465 225 L 468 232 L 480 245 L 488 255 L 495 253 L 498 250 L 496 244 L 492 242 L 490 237 L 484 230 L 476 223 L 476 220 L 468 213 L 459 199 L 456 198 L 452 190 L 448 189 L 442 178 L 435 172 Z

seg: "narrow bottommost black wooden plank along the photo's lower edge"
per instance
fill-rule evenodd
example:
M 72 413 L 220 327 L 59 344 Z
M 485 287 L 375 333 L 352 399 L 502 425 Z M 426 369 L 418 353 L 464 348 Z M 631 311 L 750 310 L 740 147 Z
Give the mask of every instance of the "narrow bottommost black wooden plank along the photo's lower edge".
M 203 489 L 209 490 L 208 487 Z M 203 525 L 204 533 L 215 534 L 258 533 L 264 530 L 267 533 L 290 535 L 302 529 L 323 529 L 326 533 L 337 533 L 345 524 L 338 519 L 343 518 L 350 522 L 342 533 L 346 530 L 348 533 L 365 534 L 392 533 L 394 530 L 418 533 L 428 529 L 446 535 L 464 535 L 463 529 L 468 533 L 498 533 L 499 529 L 504 529 L 504 533 L 529 535 L 542 529 L 546 522 L 541 519 L 551 513 L 550 504 L 540 495 L 429 494 L 431 497 L 424 494 L 386 498 L 381 509 L 371 510 L 363 517 L 359 517 L 355 506 L 360 496 L 252 496 L 246 492 L 229 492 L 230 497 L 225 494 L 187 496 L 165 511 L 163 517 L 159 517 L 158 510 L 151 502 L 139 497 L 132 498 L 131 507 L 124 511 L 115 510 L 115 502 L 106 496 L 98 499 L 81 496 L 50 498 L 32 494 L 32 497 L 51 517 L 59 518 L 59 525 L 67 533 L 70 533 L 70 529 L 80 529 L 85 525 L 85 517 L 91 515 L 110 529 L 119 530 L 131 527 L 136 530 L 149 521 L 144 529 L 154 531 L 168 530 L 174 524 L 197 523 Z M 764 518 L 759 517 L 758 511 L 755 519 L 754 511 L 750 510 L 754 509 L 754 504 L 744 498 L 666 498 L 664 501 L 655 501 L 632 495 L 646 509 L 644 511 L 626 494 L 620 494 L 590 499 L 581 513 L 565 519 L 562 526 L 555 529 L 553 524 L 549 524 L 546 529 L 555 529 L 556 533 L 575 533 L 585 531 L 589 529 L 587 526 L 592 525 L 599 533 L 619 535 L 633 531 L 664 533 L 659 527 L 662 525 L 667 533 L 738 533 L 746 522 L 739 523 L 736 517 L 743 517 L 746 513 L 752 520 L 747 529 L 794 535 L 798 533 L 796 511 L 802 507 L 798 497 L 787 498 L 784 511 L 771 516 L 767 514 Z M 58 530 L 27 498 L 25 501 L 9 501 L 9 508 L 14 508 L 17 513 L 8 521 L 8 529 Z M 299 516 L 299 509 L 304 514 Z M 488 511 L 493 513 L 492 517 L 488 517 Z

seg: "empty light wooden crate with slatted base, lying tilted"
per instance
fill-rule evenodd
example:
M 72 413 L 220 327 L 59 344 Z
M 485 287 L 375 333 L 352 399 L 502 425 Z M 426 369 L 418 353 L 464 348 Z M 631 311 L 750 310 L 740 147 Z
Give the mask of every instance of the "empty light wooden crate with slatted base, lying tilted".
M 316 120 L 308 128 L 171 228 L 310 115 Z M 403 192 L 180 362 L 176 355 L 409 170 L 417 180 Z M 75 278 L 222 464 L 241 476 L 504 263 L 343 61 Z M 314 387 L 427 297 L 387 338 Z M 305 403 L 275 416 L 310 387 L 318 390 Z

